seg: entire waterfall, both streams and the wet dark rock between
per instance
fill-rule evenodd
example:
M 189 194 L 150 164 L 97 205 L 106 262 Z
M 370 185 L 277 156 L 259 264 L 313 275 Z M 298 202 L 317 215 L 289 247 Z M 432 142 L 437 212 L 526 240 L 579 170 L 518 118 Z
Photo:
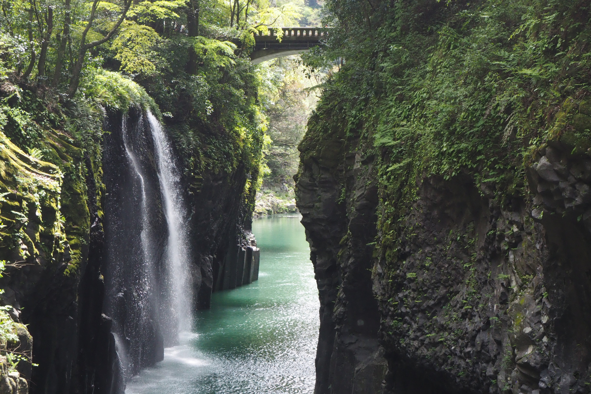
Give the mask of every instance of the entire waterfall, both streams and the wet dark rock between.
M 125 377 L 162 360 L 190 329 L 191 257 L 180 173 L 158 119 L 130 111 L 104 158 L 103 308 L 121 370 L 111 392 L 121 393 Z

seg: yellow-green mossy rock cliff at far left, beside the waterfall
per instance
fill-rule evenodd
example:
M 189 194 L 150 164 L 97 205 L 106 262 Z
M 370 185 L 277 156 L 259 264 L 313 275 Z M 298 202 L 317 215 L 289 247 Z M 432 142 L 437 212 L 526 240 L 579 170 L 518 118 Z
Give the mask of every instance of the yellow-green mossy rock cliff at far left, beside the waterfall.
M 14 307 L 13 320 L 28 324 L 35 337 L 40 366 L 31 373 L 29 364 L 24 373 L 35 383 L 31 392 L 64 392 L 77 370 L 78 272 L 89 255 L 85 157 L 60 131 L 47 133 L 47 161 L 25 154 L 4 133 L 0 139 L 0 186 L 8 190 L 1 200 L 0 259 L 13 263 L 0 279 L 2 303 Z

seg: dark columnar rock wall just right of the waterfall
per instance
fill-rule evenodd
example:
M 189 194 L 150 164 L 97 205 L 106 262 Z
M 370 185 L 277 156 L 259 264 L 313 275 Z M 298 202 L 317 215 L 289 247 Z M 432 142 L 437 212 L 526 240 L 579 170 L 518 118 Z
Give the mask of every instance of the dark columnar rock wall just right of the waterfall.
M 217 143 L 218 138 L 222 144 L 228 143 L 227 136 L 219 135 L 219 131 L 212 128 L 203 126 L 202 133 L 203 139 L 209 143 L 212 139 Z M 200 150 L 196 151 L 204 156 Z M 203 160 L 203 156 L 200 159 Z M 183 177 L 187 185 L 189 233 L 195 262 L 193 296 L 197 309 L 209 308 L 214 291 L 235 288 L 258 279 L 259 251 L 251 224 L 259 168 L 258 162 L 253 165 L 243 158 L 239 161 L 231 170 L 193 168 Z M 223 161 L 217 163 L 223 164 Z M 239 266 L 242 267 L 240 272 Z M 248 273 L 245 266 L 251 268 Z M 229 286 L 230 273 L 233 286 Z

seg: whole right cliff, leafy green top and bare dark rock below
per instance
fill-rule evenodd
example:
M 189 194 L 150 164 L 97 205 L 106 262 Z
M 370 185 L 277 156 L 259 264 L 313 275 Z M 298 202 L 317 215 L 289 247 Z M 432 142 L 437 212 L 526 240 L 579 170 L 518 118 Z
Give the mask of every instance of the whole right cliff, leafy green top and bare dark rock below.
M 328 2 L 347 61 L 300 145 L 316 393 L 589 393 L 587 11 L 371 5 Z

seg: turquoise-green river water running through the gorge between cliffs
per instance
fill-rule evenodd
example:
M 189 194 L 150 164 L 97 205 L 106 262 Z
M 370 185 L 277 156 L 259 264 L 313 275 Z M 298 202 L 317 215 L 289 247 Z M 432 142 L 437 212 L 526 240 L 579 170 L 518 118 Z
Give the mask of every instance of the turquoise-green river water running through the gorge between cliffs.
M 126 394 L 314 392 L 319 301 L 300 216 L 255 219 L 259 280 L 216 292 L 192 333 L 164 361 L 131 379 Z

